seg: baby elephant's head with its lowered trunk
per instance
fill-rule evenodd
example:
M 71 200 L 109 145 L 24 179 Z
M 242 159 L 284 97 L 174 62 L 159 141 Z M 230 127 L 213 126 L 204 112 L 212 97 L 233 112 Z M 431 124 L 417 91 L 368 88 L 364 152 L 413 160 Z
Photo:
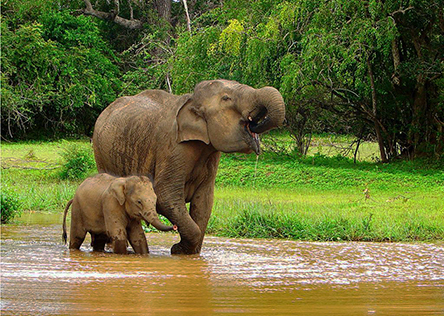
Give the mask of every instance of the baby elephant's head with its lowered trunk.
M 176 230 L 176 226 L 163 224 L 156 213 L 157 196 L 151 180 L 145 176 L 119 178 L 113 181 L 108 189 L 125 210 L 129 217 L 144 220 L 158 230 Z

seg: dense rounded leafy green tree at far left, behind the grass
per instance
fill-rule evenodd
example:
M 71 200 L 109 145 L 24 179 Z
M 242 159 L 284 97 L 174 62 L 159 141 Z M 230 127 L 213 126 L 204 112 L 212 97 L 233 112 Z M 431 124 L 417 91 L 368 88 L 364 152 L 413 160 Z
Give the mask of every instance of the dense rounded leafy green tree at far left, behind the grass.
M 2 20 L 2 135 L 41 129 L 90 134 L 120 86 L 113 53 L 90 18 L 44 12 L 12 29 Z

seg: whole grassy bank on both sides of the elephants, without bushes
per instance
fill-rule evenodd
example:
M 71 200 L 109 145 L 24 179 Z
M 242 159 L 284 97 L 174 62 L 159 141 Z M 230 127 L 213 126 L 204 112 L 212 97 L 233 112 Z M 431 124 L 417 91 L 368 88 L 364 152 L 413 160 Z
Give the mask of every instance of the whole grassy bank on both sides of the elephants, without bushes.
M 23 210 L 62 212 L 81 180 L 61 180 L 69 143 L 2 144 L 2 186 Z M 88 141 L 76 146 L 90 148 Z M 324 151 L 325 152 L 325 151 Z M 31 168 L 31 169 L 23 169 Z M 94 172 L 94 170 L 91 170 Z M 444 171 L 425 161 L 223 155 L 208 231 L 300 240 L 444 240 Z

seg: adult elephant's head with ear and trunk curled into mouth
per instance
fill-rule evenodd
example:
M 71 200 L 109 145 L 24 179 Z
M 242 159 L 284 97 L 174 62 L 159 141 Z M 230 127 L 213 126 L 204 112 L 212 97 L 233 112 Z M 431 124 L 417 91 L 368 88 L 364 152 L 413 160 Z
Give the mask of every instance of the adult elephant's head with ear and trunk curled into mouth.
M 226 153 L 259 154 L 258 134 L 285 119 L 284 100 L 277 89 L 254 89 L 235 81 L 203 81 L 179 102 L 178 142 L 199 140 Z

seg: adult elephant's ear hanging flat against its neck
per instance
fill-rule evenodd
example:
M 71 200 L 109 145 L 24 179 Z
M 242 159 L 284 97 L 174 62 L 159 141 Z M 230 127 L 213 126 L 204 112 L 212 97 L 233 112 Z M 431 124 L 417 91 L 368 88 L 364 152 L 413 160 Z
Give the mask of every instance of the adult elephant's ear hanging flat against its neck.
M 189 95 L 181 98 L 180 102 L 176 115 L 177 142 L 200 140 L 208 145 L 210 138 L 202 109 L 194 104 Z

